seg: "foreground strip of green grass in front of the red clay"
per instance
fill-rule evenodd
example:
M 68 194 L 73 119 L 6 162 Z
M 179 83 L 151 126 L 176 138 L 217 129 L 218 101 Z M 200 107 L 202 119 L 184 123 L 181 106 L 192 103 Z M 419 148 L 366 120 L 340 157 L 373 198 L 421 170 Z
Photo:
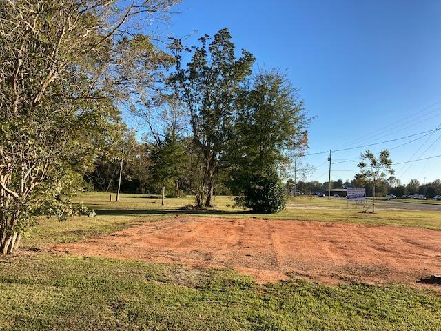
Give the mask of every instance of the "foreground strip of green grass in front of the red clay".
M 232 270 L 32 254 L 0 260 L 1 330 L 441 330 L 404 286 L 258 285 Z

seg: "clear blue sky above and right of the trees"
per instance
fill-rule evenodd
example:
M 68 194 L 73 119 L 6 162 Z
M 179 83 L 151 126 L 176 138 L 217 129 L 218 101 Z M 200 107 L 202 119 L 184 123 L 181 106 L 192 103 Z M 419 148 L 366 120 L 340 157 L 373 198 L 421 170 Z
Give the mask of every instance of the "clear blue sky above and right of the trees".
M 441 124 L 441 102 L 431 106 L 441 101 L 441 1 L 184 0 L 176 9 L 180 13 L 167 30 L 177 37 L 212 35 L 228 27 L 237 48 L 252 52 L 258 66 L 287 69 L 309 115 L 317 117 L 309 128 L 311 153 Z M 335 162 L 358 162 L 366 149 L 336 152 Z M 391 150 L 396 163 L 413 154 L 413 159 L 441 154 L 441 131 Z M 309 179 L 327 181 L 326 154 L 305 161 L 321 165 Z M 334 165 L 331 178 L 352 179 L 356 171 L 337 170 L 353 170 L 356 164 Z M 441 178 L 441 158 L 402 167 L 395 168 L 404 183 Z

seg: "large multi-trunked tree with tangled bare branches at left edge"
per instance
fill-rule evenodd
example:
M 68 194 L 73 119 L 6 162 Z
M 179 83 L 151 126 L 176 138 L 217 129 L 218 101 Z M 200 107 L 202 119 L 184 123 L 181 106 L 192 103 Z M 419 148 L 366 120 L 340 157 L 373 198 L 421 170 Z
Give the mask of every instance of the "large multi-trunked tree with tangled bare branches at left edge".
M 0 1 L 0 254 L 112 140 L 115 101 L 154 86 L 166 57 L 135 28 L 173 3 Z

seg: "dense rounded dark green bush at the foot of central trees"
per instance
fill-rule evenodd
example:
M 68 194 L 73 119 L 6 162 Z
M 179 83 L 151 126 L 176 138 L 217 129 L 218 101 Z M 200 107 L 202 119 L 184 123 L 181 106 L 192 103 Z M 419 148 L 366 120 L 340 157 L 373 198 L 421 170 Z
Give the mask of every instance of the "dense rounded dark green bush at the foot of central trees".
M 236 198 L 238 205 L 267 214 L 280 212 L 286 202 L 285 186 L 275 174 L 254 177 L 245 186 L 243 197 Z

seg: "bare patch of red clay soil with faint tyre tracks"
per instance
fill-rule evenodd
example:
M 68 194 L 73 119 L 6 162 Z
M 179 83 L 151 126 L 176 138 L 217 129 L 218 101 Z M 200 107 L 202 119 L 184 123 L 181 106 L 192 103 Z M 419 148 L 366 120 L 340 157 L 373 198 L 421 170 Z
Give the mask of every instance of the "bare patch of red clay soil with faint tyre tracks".
M 409 283 L 441 274 L 441 232 L 348 223 L 174 217 L 54 250 L 234 268 L 265 283 Z

